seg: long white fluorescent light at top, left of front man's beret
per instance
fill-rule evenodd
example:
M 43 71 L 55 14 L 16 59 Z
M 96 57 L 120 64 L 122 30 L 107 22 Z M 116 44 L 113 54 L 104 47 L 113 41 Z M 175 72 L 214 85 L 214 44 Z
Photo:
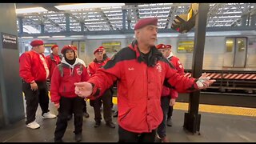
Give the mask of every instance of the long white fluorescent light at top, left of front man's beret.
M 80 3 L 72 5 L 54 6 L 58 10 L 75 10 L 75 9 L 89 9 L 89 8 L 102 8 L 111 6 L 125 6 L 124 3 Z

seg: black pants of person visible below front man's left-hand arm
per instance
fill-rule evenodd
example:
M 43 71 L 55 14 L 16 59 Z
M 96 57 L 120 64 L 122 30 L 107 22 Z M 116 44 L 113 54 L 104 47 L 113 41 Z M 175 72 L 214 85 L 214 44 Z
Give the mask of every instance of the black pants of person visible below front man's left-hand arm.
M 90 100 L 90 106 L 94 107 L 94 120 L 100 122 L 102 120 L 101 106 L 103 103 L 103 117 L 105 122 L 112 122 L 112 95 L 110 89 L 106 90 L 100 98 Z

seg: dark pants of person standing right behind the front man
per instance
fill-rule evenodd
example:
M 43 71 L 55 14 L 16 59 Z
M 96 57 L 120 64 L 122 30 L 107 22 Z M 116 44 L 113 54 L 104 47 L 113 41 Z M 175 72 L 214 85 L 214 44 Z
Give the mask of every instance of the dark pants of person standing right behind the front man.
M 161 97 L 161 107 L 162 107 L 163 118 L 157 130 L 160 138 L 166 137 L 166 120 L 167 120 L 166 116 L 169 110 L 169 103 L 170 103 L 169 96 Z

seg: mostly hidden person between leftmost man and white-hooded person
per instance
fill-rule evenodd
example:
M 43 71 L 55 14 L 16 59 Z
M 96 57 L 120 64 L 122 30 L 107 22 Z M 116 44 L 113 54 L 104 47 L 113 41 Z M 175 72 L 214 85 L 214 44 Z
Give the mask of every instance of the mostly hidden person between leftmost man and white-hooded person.
M 58 54 L 58 45 L 51 46 L 50 50 L 52 50 L 52 53 L 46 56 L 46 61 L 48 62 L 50 70 L 49 80 L 54 72 L 54 68 L 62 61 L 62 56 Z

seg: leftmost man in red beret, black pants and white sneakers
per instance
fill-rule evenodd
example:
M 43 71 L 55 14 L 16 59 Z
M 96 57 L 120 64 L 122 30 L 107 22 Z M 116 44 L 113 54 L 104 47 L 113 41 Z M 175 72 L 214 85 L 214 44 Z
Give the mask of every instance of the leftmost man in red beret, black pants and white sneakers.
M 35 114 L 38 103 L 42 109 L 42 118 L 56 118 L 50 114 L 48 89 L 46 79 L 49 68 L 44 56 L 45 47 L 42 40 L 30 42 L 32 49 L 26 51 L 19 58 L 19 75 L 22 78 L 22 91 L 26 99 L 26 126 L 31 129 L 40 127 L 36 122 Z

